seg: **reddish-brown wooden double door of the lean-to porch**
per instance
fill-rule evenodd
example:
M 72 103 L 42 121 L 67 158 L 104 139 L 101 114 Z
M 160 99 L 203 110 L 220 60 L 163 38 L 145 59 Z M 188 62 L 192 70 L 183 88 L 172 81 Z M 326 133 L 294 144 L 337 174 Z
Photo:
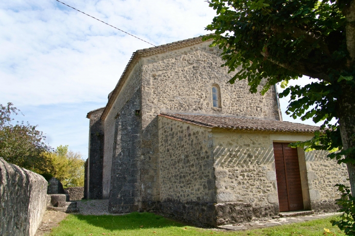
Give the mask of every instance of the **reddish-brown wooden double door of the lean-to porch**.
M 289 143 L 274 143 L 280 212 L 303 210 L 297 148 L 288 147 L 288 145 Z

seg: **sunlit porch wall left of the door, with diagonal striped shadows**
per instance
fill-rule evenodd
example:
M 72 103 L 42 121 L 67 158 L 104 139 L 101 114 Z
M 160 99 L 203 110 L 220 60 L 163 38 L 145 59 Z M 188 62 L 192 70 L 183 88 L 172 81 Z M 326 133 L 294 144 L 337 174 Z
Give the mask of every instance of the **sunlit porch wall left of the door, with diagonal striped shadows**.
M 267 133 L 213 131 L 213 144 L 217 203 L 278 204 L 273 146 Z

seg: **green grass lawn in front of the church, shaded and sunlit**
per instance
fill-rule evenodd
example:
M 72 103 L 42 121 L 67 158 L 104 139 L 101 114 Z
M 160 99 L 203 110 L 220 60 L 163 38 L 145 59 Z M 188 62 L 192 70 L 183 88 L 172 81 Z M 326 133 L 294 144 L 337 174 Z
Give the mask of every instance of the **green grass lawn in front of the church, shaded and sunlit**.
M 333 217 L 335 218 L 335 217 Z M 52 230 L 51 236 L 342 236 L 329 222 L 331 218 L 293 223 L 258 230 L 226 232 L 201 229 L 157 216 L 153 213 L 131 213 L 124 216 L 69 215 Z M 327 228 L 331 233 L 325 233 Z

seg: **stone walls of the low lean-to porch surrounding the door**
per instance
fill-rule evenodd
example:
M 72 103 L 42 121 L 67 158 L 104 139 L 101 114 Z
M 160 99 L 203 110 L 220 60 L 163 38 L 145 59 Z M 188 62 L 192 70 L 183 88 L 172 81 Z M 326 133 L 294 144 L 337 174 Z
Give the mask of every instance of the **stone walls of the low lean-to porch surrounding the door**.
M 276 216 L 273 142 L 312 137 L 311 133 L 211 129 L 159 116 L 160 209 L 212 225 Z M 304 209 L 335 212 L 339 192 L 334 185 L 349 185 L 346 166 L 323 151 L 298 148 L 297 152 Z

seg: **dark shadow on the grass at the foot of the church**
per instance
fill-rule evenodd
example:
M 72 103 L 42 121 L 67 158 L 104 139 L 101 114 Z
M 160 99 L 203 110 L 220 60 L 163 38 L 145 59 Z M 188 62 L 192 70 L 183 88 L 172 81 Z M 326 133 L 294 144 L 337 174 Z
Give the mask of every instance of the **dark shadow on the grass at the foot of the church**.
M 155 215 L 153 213 L 134 212 L 123 216 L 84 216 L 73 215 L 80 221 L 101 227 L 106 230 L 127 230 L 127 229 L 147 229 L 147 228 L 165 228 L 171 226 L 181 227 L 183 224 Z

